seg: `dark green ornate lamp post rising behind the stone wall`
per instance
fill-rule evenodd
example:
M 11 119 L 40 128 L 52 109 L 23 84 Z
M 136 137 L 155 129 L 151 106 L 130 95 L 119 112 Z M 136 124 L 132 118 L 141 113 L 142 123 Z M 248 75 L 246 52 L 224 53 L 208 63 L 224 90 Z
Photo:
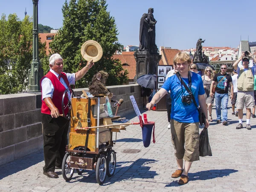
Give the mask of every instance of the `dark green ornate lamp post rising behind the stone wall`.
M 41 68 L 38 52 L 38 0 L 32 0 L 33 2 L 33 58 L 31 63 L 31 70 L 29 71 L 29 85 L 30 91 L 41 91 L 40 79 L 44 75 L 44 71 Z

